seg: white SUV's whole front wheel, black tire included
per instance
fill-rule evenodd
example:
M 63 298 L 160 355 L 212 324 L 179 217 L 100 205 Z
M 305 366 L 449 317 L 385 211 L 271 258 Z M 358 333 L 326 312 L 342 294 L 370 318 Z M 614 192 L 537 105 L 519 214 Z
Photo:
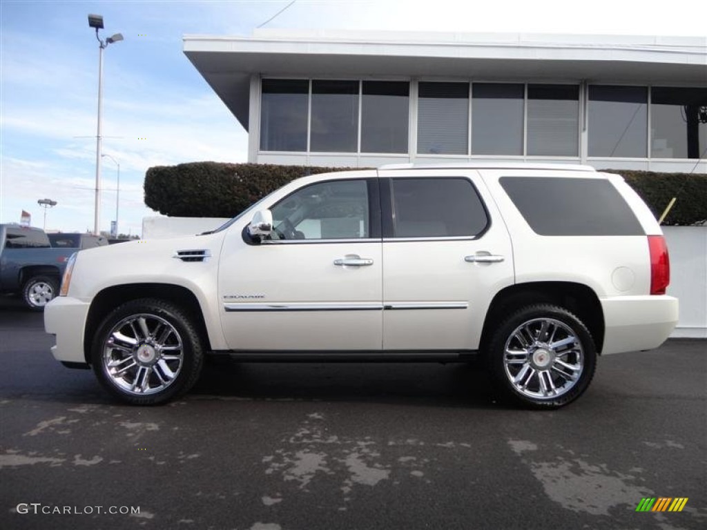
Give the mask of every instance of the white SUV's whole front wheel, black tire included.
M 163 404 L 185 394 L 199 378 L 203 359 L 192 319 L 179 306 L 153 298 L 113 310 L 91 348 L 100 383 L 132 405 Z

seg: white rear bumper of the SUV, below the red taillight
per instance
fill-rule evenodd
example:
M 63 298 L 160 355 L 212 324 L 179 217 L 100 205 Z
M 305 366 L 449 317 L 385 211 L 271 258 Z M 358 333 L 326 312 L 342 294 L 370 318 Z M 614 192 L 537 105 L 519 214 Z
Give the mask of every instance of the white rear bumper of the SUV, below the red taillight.
M 604 311 L 602 354 L 658 348 L 677 325 L 677 298 L 619 296 L 600 300 Z

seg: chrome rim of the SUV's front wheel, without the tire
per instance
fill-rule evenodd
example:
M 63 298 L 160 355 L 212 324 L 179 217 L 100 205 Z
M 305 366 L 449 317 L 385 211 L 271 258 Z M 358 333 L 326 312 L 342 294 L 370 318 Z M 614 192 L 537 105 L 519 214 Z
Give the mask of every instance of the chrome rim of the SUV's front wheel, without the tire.
M 156 394 L 175 382 L 184 355 L 182 337 L 173 324 L 156 314 L 132 314 L 107 334 L 103 372 L 128 394 Z

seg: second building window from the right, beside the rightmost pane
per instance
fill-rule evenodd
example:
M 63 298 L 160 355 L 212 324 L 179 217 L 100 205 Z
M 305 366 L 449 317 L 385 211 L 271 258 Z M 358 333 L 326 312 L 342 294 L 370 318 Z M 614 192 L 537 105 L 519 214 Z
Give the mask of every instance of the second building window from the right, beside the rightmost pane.
M 648 88 L 589 87 L 590 156 L 645 158 L 648 134 Z

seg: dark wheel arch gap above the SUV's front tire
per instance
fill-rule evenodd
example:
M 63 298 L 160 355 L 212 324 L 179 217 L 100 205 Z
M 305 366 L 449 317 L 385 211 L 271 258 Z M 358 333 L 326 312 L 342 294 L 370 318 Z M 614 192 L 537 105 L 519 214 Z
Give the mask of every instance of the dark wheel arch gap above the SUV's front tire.
M 182 307 L 189 317 L 194 319 L 194 325 L 199 331 L 204 348 L 211 349 L 203 308 L 192 290 L 172 283 L 127 283 L 105 288 L 93 298 L 86 317 L 86 326 L 83 329 L 83 357 L 86 359 L 86 363 L 90 364 L 93 336 L 107 314 L 115 307 L 139 298 L 158 298 Z

